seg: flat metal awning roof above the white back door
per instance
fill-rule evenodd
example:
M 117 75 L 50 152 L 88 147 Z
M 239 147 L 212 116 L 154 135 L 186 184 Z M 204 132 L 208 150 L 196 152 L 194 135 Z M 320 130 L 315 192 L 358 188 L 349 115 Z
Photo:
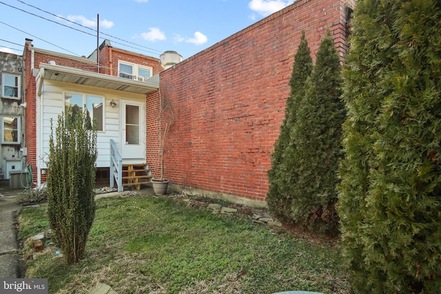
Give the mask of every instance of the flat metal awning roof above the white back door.
M 99 87 L 108 90 L 117 90 L 137 94 L 149 94 L 159 89 L 158 76 L 152 76 L 152 78 L 147 79 L 147 81 L 135 81 L 129 78 L 120 78 L 119 76 L 88 72 L 86 70 L 79 70 L 74 67 L 52 65 L 48 63 L 40 63 L 40 70 L 37 73 L 36 80 L 38 95 L 41 95 L 41 85 L 43 85 L 44 80 Z

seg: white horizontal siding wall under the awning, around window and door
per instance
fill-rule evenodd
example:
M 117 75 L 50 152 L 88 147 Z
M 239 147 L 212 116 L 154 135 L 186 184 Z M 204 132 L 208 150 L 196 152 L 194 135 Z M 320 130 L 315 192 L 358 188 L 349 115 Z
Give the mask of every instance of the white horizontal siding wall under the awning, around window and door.
M 45 169 L 49 153 L 50 139 L 50 119 L 52 118 L 54 128 L 57 125 L 59 114 L 64 112 L 64 92 L 74 92 L 79 94 L 92 94 L 103 96 L 104 98 L 104 129 L 98 132 L 96 145 L 98 148 L 98 158 L 96 167 L 109 167 L 110 165 L 110 139 L 113 139 L 117 146 L 120 144 L 120 98 L 144 101 L 145 95 L 132 94 L 119 91 L 109 91 L 96 87 L 85 87 L 72 85 L 69 83 L 59 83 L 54 81 L 44 81 L 39 101 L 39 124 L 37 125 L 37 158 L 39 167 Z M 110 106 L 112 99 L 116 102 L 116 107 Z M 120 150 L 121 151 L 121 150 Z

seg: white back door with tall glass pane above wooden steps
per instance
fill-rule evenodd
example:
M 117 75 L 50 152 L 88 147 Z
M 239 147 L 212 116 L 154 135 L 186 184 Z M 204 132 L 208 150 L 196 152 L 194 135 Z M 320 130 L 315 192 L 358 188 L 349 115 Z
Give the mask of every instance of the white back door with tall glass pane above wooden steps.
M 145 162 L 145 103 L 121 99 L 121 157 Z

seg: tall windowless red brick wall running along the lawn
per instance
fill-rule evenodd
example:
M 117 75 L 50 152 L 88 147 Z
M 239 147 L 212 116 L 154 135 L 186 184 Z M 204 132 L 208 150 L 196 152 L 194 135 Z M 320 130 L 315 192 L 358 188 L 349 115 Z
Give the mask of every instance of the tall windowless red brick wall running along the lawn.
M 165 143 L 165 178 L 265 200 L 301 31 L 315 59 L 329 28 L 343 60 L 347 3 L 353 7 L 353 0 L 296 1 L 162 72 L 161 98 L 171 101 L 175 116 Z M 158 176 L 158 94 L 147 96 L 146 112 L 147 162 Z

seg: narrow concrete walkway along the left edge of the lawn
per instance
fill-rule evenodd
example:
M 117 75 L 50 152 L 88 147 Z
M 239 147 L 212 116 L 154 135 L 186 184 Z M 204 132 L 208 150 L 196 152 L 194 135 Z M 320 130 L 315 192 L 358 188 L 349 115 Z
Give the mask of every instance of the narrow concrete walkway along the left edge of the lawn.
M 21 207 L 17 196 L 22 191 L 0 185 L 0 277 L 20 277 L 21 274 L 14 218 Z

